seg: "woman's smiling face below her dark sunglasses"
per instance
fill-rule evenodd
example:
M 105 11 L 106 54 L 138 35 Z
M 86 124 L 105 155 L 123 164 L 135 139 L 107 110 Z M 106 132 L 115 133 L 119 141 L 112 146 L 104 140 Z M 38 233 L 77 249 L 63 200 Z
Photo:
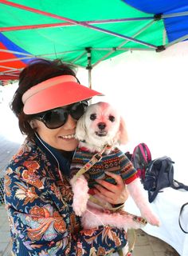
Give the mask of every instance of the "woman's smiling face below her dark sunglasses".
M 65 125 L 57 129 L 49 129 L 45 124 L 37 119 L 33 120 L 37 133 L 43 141 L 53 146 L 57 150 L 72 151 L 76 149 L 78 141 L 74 138 L 76 130 L 76 120 L 69 114 Z

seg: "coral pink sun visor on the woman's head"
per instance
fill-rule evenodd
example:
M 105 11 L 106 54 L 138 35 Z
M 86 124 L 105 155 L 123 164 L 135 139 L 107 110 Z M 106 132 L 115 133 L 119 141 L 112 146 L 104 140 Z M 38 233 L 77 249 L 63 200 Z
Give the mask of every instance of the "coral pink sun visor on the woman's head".
M 45 80 L 25 91 L 22 96 L 23 111 L 25 114 L 37 114 L 96 95 L 103 94 L 80 85 L 72 75 L 61 75 Z

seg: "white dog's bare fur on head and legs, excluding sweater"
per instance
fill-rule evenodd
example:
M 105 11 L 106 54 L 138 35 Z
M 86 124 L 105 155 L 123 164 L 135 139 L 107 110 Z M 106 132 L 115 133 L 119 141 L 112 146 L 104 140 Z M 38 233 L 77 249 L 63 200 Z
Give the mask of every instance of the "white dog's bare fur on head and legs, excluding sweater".
M 77 122 L 76 138 L 79 139 L 79 147 L 84 147 L 90 152 L 100 152 L 106 144 L 110 149 L 105 154 L 111 152 L 119 145 L 127 142 L 127 131 L 123 118 L 118 112 L 112 108 L 107 102 L 98 102 L 88 106 L 87 111 Z M 74 159 L 72 160 L 74 161 Z M 103 158 L 102 160 L 103 161 Z M 78 165 L 77 167 L 81 167 Z M 75 168 L 75 165 L 72 169 Z M 74 181 L 71 180 L 73 196 L 73 209 L 77 215 L 82 217 L 82 225 L 84 228 L 92 228 L 95 226 L 110 225 L 118 228 L 134 228 L 143 227 L 140 222 L 135 222 L 131 214 L 122 214 L 120 212 L 107 213 L 101 210 L 101 206 L 96 206 L 89 202 L 88 181 L 84 175 Z M 134 199 L 136 205 L 147 222 L 151 225 L 159 226 L 159 219 L 152 213 L 147 199 L 143 196 L 143 186 L 139 178 L 127 184 L 127 190 Z M 103 202 L 105 204 L 105 202 Z

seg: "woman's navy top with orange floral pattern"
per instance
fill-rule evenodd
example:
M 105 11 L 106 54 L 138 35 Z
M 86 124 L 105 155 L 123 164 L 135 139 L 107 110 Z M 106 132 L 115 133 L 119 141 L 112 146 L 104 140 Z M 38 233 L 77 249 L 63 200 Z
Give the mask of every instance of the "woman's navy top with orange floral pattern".
M 69 160 L 35 138 L 6 168 L 5 201 L 16 256 L 106 255 L 127 244 L 124 230 L 83 230 L 72 210 Z

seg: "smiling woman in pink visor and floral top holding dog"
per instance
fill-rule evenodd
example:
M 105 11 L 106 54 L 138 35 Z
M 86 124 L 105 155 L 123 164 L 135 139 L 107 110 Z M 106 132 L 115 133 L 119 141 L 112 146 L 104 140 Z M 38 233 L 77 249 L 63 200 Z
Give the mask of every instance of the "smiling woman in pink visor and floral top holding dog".
M 72 66 L 38 60 L 22 70 L 11 108 L 27 138 L 6 169 L 6 210 L 14 255 L 105 255 L 127 243 L 124 230 L 82 230 L 72 211 L 69 166 L 76 121 L 100 93 L 81 86 Z M 127 199 L 123 181 L 99 182 L 112 204 Z M 108 190 L 107 190 L 108 188 Z

